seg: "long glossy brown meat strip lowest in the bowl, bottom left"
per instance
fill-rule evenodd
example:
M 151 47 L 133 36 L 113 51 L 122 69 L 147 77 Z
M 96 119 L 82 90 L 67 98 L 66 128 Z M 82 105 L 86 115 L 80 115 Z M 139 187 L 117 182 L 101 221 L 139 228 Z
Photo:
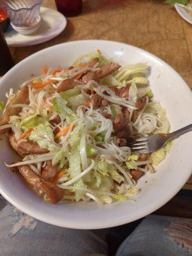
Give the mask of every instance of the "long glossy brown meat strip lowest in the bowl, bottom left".
M 18 170 L 31 186 L 41 190 L 45 195 L 47 195 L 52 204 L 57 204 L 57 202 L 63 198 L 63 189 L 57 187 L 50 181 L 41 179 L 41 177 L 34 173 L 28 165 L 18 166 Z

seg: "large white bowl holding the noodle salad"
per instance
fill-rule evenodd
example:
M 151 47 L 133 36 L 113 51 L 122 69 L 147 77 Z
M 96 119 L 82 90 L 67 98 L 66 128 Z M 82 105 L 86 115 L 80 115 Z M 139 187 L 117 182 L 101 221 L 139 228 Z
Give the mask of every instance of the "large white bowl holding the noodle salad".
M 172 125 L 172 131 L 192 123 L 192 95 L 187 84 L 173 68 L 149 52 L 131 45 L 102 40 L 68 42 L 36 52 L 13 67 L 0 81 L 1 95 L 10 86 L 16 90 L 20 83 L 40 74 L 41 65 L 57 68 L 68 66 L 78 56 L 100 49 L 118 63 L 148 63 L 149 81 Z M 3 96 L 2 96 L 3 97 Z M 1 99 L 2 100 L 2 99 Z M 15 154 L 7 140 L 0 143 L 1 160 L 11 163 Z M 144 175 L 138 182 L 141 193 L 136 202 L 112 205 L 57 204 L 43 202 L 26 186 L 24 180 L 5 168 L 0 161 L 0 193 L 21 211 L 41 221 L 70 228 L 106 228 L 138 220 L 168 202 L 184 186 L 192 170 L 192 132 L 175 140 L 174 146 L 157 172 Z M 145 183 L 147 180 L 147 183 Z

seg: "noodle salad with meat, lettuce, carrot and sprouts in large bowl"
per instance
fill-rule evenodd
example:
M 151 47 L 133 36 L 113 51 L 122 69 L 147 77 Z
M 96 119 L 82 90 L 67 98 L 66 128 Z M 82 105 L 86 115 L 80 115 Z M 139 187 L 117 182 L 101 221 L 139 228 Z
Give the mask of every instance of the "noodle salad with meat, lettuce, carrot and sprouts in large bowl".
M 70 67 L 43 66 L 41 76 L 10 89 L 0 104 L 0 133 L 20 156 L 4 164 L 52 204 L 111 204 L 137 195 L 137 180 L 170 149 L 137 154 L 127 145 L 170 130 L 165 110 L 152 100 L 149 69 L 121 67 L 99 50 Z

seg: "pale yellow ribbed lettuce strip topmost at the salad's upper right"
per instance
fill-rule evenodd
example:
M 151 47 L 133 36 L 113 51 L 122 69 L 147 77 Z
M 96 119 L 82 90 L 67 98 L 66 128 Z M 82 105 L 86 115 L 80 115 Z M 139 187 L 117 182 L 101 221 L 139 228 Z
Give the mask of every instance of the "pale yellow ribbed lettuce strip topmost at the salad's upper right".
M 145 74 L 148 72 L 148 70 L 149 66 L 146 64 L 129 65 L 126 67 L 122 67 L 115 75 L 115 78 L 120 82 L 124 80 L 127 81 L 131 75 L 137 73 Z

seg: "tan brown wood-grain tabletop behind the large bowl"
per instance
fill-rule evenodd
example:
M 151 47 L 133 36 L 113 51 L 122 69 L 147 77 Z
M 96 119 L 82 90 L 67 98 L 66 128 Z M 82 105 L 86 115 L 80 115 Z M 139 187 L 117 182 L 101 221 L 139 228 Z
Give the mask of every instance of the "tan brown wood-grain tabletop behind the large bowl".
M 55 9 L 54 0 L 43 6 Z M 43 44 L 12 48 L 15 62 L 72 40 L 105 39 L 135 45 L 170 64 L 192 88 L 192 26 L 163 0 L 85 0 L 59 36 Z M 184 188 L 192 189 L 192 177 Z

